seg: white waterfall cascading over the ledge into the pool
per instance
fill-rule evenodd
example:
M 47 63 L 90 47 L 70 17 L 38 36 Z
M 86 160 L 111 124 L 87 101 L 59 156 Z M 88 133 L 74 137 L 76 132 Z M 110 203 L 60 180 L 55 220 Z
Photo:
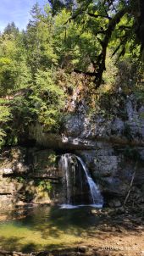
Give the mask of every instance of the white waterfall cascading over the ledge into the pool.
M 63 175 L 64 207 L 73 208 L 86 204 L 102 207 L 101 192 L 80 157 L 69 153 L 62 155 L 59 170 Z

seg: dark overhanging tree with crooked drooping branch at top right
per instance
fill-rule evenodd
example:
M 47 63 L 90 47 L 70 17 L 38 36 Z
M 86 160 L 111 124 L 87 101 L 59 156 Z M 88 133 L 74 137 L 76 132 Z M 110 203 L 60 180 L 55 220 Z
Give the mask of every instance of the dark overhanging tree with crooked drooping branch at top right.
M 143 0 L 85 0 L 85 1 L 50 1 L 53 14 L 59 8 L 71 12 L 67 23 L 75 20 L 83 28 L 91 30 L 99 43 L 93 72 L 75 70 L 95 77 L 96 87 L 102 83 L 102 74 L 106 70 L 105 60 L 109 43 L 114 39 L 114 54 L 124 56 L 126 48 L 141 46 L 139 56 L 144 58 L 144 1 Z M 57 4 L 56 4 L 57 3 Z M 119 35 L 119 38 L 114 37 Z

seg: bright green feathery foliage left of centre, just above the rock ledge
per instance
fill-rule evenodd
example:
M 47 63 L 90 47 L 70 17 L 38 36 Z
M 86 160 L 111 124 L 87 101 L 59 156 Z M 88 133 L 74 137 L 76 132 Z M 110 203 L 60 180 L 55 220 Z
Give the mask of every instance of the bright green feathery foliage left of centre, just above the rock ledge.
M 55 84 L 52 70 L 38 70 L 36 81 L 31 86 L 30 112 L 36 114 L 37 120 L 44 125 L 45 131 L 58 131 L 60 109 L 64 105 L 64 92 Z

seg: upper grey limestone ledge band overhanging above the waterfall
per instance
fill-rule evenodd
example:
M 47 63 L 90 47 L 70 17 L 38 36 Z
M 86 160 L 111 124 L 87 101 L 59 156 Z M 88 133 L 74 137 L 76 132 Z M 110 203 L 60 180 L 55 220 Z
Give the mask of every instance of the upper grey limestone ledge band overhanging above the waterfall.
M 144 106 L 131 95 L 125 99 L 125 105 L 117 106 L 114 112 L 105 116 L 93 109 L 92 114 L 86 114 L 80 107 L 65 115 L 64 129 L 60 134 L 43 132 L 42 125 L 36 124 L 30 126 L 29 136 L 40 146 L 56 149 L 93 149 L 99 142 L 143 147 Z

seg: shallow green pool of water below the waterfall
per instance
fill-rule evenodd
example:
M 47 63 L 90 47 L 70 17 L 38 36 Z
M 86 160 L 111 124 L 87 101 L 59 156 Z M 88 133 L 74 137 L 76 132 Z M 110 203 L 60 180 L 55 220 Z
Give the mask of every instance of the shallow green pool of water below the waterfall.
M 75 246 L 96 228 L 90 207 L 36 207 L 25 218 L 0 222 L 0 249 L 22 252 Z

